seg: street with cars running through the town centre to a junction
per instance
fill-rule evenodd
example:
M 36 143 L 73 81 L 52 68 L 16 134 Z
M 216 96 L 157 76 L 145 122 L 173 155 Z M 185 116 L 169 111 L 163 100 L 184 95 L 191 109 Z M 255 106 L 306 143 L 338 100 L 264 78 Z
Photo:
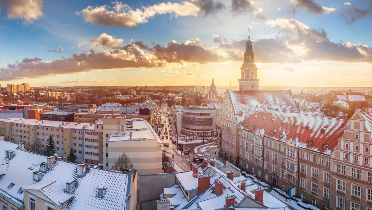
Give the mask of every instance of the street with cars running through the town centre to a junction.
M 164 127 L 161 128 L 161 135 L 160 135 L 160 140 L 161 140 L 161 144 L 160 144 L 160 147 L 162 150 L 165 150 L 166 151 L 166 156 L 167 157 L 171 157 L 172 158 L 172 155 L 174 155 L 174 159 L 173 161 L 176 162 L 183 170 L 190 170 L 190 163 L 194 163 L 192 161 L 192 158 L 195 157 L 197 154 L 194 153 L 194 149 L 195 147 L 199 146 L 199 145 L 202 145 L 203 143 L 202 142 L 198 142 L 198 143 L 189 143 L 189 144 L 184 144 L 184 148 L 186 147 L 190 147 L 191 149 L 191 152 L 190 154 L 184 154 L 183 152 L 181 153 L 182 155 L 179 155 L 176 153 L 176 151 L 174 151 L 174 149 L 176 149 L 176 143 L 172 143 L 171 140 L 169 139 L 169 134 L 172 135 L 173 138 L 177 138 L 176 137 L 176 134 L 174 134 L 174 128 L 171 128 L 171 126 L 169 126 L 169 119 L 168 119 L 168 115 L 170 114 L 169 112 L 169 108 L 167 106 L 167 104 L 165 104 L 161 109 L 160 109 L 160 116 L 161 116 L 161 122 L 164 122 Z M 163 116 L 164 114 L 164 116 Z M 160 126 L 160 123 L 159 122 L 159 127 Z M 165 132 L 165 128 L 167 128 L 167 132 Z M 170 131 L 171 130 L 171 131 Z M 158 133 L 158 131 L 156 131 Z M 168 138 L 165 137 L 165 133 L 168 134 Z M 164 136 L 164 139 L 162 139 L 161 137 Z M 179 141 L 181 142 L 181 141 Z M 204 144 L 207 145 L 208 143 L 210 142 L 213 142 L 212 141 L 204 141 Z M 164 143 L 169 143 L 169 147 L 168 146 L 164 146 L 163 144 Z M 191 161 L 187 161 L 188 157 L 191 157 Z M 201 164 L 201 163 L 200 163 Z

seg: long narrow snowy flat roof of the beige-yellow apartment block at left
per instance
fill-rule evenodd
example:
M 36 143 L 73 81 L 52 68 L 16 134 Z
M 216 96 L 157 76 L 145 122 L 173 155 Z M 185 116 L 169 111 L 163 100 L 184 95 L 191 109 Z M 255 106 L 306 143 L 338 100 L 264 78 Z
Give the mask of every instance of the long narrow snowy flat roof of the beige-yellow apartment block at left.
M 72 129 L 83 129 L 84 130 L 94 130 L 94 124 L 90 123 L 74 123 L 74 122 L 60 122 L 51 120 L 34 120 L 34 119 L 24 119 L 18 117 L 12 117 L 8 119 L 0 119 L 0 122 L 12 122 L 21 123 L 23 125 L 40 125 L 48 127 L 59 127 L 59 128 L 72 128 Z

